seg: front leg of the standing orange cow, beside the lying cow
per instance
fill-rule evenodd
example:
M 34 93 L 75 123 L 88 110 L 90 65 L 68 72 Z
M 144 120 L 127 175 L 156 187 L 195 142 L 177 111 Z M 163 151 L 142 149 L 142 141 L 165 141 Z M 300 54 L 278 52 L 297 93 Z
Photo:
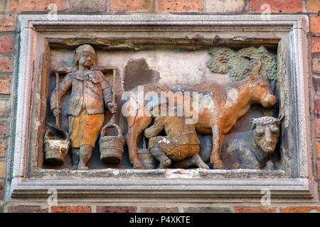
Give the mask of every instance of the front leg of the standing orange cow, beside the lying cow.
M 223 134 L 221 128 L 217 124 L 212 127 L 213 148 L 210 156 L 210 162 L 215 169 L 225 169 L 223 161 L 220 160 L 220 148 L 223 142 Z

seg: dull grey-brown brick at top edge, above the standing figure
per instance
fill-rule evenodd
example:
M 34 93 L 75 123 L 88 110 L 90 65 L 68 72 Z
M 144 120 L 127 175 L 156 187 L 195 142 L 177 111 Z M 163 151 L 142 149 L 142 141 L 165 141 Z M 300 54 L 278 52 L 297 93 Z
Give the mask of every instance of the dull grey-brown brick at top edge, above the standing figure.
M 107 1 L 105 0 L 69 0 L 69 10 L 78 12 L 106 11 Z

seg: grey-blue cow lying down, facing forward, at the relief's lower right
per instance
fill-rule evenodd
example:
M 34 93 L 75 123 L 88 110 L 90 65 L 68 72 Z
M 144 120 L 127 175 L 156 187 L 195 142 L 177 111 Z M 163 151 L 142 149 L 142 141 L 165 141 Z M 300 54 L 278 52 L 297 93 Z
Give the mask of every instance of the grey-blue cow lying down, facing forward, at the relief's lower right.
M 279 140 L 279 124 L 282 118 L 265 116 L 251 119 L 251 131 L 235 133 L 225 140 L 221 157 L 228 169 L 270 168 L 270 160 Z

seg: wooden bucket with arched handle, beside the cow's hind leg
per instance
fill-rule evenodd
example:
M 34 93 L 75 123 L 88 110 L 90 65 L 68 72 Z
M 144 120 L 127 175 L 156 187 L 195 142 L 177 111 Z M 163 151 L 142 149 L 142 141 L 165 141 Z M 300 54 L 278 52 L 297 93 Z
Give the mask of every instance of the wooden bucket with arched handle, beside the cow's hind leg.
M 114 128 L 117 135 L 107 135 L 107 130 Z M 107 123 L 100 134 L 100 160 L 107 164 L 119 164 L 122 160 L 124 137 L 122 131 L 115 123 Z

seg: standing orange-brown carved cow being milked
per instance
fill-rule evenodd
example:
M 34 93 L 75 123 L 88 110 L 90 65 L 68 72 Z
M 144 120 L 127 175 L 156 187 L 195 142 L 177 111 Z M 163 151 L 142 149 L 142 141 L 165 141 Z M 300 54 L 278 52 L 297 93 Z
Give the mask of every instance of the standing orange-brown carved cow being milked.
M 249 111 L 250 105 L 262 104 L 262 106 L 270 108 L 277 102 L 267 80 L 258 74 L 260 68 L 261 63 L 252 76 L 240 82 L 230 82 L 225 85 L 211 84 L 202 87 L 181 87 L 183 91 L 200 92 L 198 95 L 199 107 L 198 109 L 193 109 L 193 114 L 198 116 L 196 131 L 201 134 L 212 133 L 213 135 L 213 150 L 210 155 L 210 163 L 213 164 L 214 168 L 225 168 L 225 165 L 220 160 L 220 148 L 224 135 L 235 126 L 240 117 Z M 137 94 L 137 91 L 138 88 L 135 88 L 131 91 L 131 94 Z M 172 91 L 170 87 L 156 84 L 146 84 L 143 89 L 144 94 L 148 92 L 160 94 L 161 92 L 169 91 Z M 139 106 L 137 106 L 137 102 L 139 100 L 129 99 L 125 105 L 127 110 L 134 109 L 132 113 L 137 113 L 126 116 L 128 122 L 126 141 L 129 148 L 129 159 L 134 168 L 145 168 L 137 157 L 137 141 L 144 129 L 151 123 L 152 117 L 147 108 L 148 101 L 142 102 L 142 105 Z

